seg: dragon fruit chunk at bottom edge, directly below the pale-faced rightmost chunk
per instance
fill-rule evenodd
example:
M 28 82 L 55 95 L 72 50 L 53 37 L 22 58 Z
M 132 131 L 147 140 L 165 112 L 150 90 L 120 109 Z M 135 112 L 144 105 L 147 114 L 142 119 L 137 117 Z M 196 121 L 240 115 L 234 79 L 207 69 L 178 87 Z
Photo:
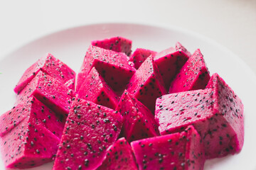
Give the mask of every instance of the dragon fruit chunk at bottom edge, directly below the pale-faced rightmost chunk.
M 203 169 L 203 143 L 189 126 L 183 132 L 131 143 L 139 169 Z

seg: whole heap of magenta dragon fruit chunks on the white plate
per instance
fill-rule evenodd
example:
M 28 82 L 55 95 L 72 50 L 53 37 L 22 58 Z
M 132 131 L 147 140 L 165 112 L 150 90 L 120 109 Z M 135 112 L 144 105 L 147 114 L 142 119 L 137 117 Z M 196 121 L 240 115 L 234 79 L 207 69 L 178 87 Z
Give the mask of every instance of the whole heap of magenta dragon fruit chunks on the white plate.
M 95 40 L 77 77 L 48 54 L 14 91 L 0 117 L 6 168 L 203 169 L 244 142 L 240 98 L 179 42 L 132 52 L 126 38 Z

